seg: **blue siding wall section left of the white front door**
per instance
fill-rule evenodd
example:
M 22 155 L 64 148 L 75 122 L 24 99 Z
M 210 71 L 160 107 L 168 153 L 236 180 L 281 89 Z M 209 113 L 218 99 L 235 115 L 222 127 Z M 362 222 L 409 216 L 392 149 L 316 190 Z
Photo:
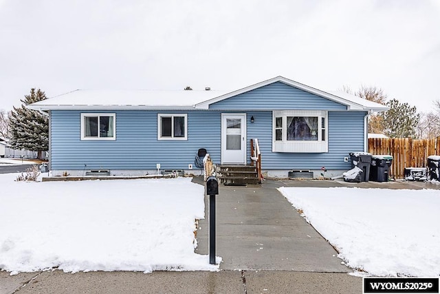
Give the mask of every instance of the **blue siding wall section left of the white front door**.
M 52 111 L 52 169 L 188 169 L 199 148 L 220 161 L 220 112 L 189 112 L 188 140 L 157 140 L 158 112 L 115 112 L 114 141 L 80 140 L 80 113 Z

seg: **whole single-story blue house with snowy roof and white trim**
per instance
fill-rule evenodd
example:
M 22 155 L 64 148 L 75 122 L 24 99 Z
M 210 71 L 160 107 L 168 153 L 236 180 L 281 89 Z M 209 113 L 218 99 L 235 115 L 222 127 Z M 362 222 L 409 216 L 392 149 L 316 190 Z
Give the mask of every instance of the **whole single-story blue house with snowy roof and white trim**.
M 76 90 L 28 107 L 50 114 L 50 169 L 81 176 L 191 172 L 206 148 L 215 164 L 249 165 L 258 138 L 268 176 L 289 170 L 318 176 L 351 168 L 366 151 L 367 116 L 388 107 L 343 92 L 323 92 L 278 76 L 233 92 Z M 195 173 L 197 171 L 194 171 Z

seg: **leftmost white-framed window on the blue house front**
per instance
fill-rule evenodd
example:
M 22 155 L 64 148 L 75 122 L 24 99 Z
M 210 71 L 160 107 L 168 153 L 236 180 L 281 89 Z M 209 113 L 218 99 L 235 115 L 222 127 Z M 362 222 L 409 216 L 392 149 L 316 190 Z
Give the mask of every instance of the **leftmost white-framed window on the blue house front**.
M 116 140 L 115 114 L 81 114 L 81 140 Z

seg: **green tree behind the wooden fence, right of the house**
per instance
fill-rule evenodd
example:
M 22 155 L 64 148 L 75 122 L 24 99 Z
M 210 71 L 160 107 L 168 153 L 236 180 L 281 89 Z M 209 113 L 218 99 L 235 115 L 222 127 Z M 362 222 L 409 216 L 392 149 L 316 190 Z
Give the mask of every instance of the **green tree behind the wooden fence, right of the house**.
M 391 138 L 416 138 L 416 127 L 420 120 L 415 106 L 408 103 L 399 103 L 392 99 L 386 103 L 390 109 L 380 114 L 384 123 L 386 136 Z

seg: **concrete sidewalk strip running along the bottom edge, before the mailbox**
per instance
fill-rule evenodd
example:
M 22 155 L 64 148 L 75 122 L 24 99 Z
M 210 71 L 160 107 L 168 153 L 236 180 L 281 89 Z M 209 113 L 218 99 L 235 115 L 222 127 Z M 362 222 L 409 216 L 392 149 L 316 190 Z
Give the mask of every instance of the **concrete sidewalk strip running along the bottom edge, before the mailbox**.
M 347 273 L 296 271 L 155 271 L 63 273 L 9 276 L 0 271 L 1 294 L 30 293 L 362 293 L 362 279 Z

